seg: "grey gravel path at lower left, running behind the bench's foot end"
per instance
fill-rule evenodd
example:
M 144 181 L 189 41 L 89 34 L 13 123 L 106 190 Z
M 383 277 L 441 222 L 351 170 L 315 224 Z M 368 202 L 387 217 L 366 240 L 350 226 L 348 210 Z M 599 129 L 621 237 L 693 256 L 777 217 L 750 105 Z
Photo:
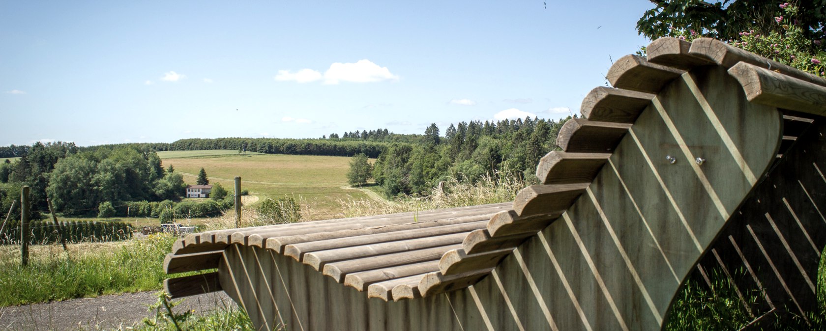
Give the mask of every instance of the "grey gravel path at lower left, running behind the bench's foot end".
M 157 301 L 154 291 L 97 298 L 54 301 L 44 304 L 0 308 L 0 330 L 118 329 L 154 316 L 147 306 Z M 235 307 L 224 291 L 185 298 L 175 312 L 200 313 Z

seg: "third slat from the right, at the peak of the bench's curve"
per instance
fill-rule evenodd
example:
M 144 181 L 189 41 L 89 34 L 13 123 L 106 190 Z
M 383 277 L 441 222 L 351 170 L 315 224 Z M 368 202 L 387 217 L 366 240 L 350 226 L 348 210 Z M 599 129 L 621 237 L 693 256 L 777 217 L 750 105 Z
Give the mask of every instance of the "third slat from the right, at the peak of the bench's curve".
M 691 42 L 674 37 L 654 40 L 645 48 L 648 62 L 676 69 L 691 69 L 700 65 L 714 64 L 710 59 L 689 53 Z

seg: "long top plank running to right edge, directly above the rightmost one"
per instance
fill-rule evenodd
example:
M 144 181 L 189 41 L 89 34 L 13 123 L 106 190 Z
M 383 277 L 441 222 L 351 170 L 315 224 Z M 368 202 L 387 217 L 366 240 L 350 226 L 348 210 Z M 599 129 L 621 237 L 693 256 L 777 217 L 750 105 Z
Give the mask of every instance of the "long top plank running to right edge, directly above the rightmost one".
M 768 69 L 791 78 L 797 78 L 807 83 L 814 83 L 821 87 L 826 87 L 826 79 L 806 73 L 786 64 L 781 64 L 775 60 L 766 59 L 760 55 L 750 53 L 728 45 L 714 38 L 699 38 L 691 42 L 689 54 L 710 59 L 715 64 L 732 68 L 740 62 L 752 64 L 762 69 Z

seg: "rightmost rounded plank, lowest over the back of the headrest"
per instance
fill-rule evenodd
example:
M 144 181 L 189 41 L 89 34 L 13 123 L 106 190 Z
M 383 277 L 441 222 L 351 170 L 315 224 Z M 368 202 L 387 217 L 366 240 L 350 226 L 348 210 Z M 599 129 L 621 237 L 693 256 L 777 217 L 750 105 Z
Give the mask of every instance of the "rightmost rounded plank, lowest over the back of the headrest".
M 826 87 L 745 62 L 735 64 L 729 74 L 737 78 L 750 102 L 817 116 L 826 114 Z

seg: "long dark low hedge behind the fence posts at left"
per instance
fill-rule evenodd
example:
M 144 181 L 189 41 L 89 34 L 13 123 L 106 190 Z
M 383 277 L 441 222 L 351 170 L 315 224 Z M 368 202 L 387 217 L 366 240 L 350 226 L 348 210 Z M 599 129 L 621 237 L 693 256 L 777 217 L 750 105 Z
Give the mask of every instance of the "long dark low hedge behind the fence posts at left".
M 132 225 L 124 222 L 69 221 L 60 222 L 66 240 L 71 243 L 82 241 L 119 241 L 132 238 Z M 29 223 L 29 244 L 50 244 L 58 241 L 57 226 L 48 220 L 33 220 Z M 10 220 L 0 233 L 0 244 L 20 244 L 20 220 Z

